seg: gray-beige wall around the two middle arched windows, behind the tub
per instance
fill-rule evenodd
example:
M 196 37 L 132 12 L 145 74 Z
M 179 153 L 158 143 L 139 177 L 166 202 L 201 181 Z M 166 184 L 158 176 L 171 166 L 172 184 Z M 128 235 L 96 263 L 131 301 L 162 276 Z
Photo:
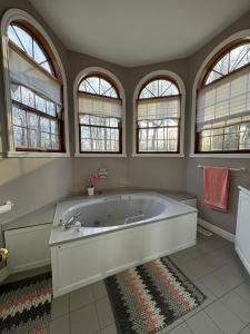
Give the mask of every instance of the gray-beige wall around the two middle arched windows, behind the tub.
M 86 187 L 88 175 L 99 167 L 108 168 L 108 179 L 99 183 L 100 188 L 110 187 L 154 187 L 176 190 L 186 189 L 186 159 L 184 158 L 132 158 L 132 95 L 136 86 L 146 75 L 162 69 L 177 72 L 186 82 L 188 79 L 188 61 L 178 60 L 152 66 L 126 69 L 92 57 L 69 52 L 69 94 L 70 94 L 70 138 L 73 151 L 73 82 L 77 75 L 88 67 L 102 67 L 110 70 L 121 81 L 126 91 L 126 138 L 127 158 L 74 158 L 72 190 L 78 191 Z

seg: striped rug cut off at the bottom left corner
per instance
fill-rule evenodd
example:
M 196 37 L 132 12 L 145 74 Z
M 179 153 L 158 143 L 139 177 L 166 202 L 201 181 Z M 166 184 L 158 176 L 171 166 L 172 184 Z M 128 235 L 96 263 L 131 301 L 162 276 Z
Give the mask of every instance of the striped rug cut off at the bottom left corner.
M 0 333 L 49 333 L 51 274 L 0 286 Z

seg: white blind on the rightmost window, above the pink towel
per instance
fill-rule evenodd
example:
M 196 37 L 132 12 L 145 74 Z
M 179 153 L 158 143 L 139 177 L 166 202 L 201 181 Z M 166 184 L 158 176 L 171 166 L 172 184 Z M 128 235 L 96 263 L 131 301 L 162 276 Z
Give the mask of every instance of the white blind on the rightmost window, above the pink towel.
M 198 95 L 197 129 L 250 114 L 250 69 L 204 87 Z

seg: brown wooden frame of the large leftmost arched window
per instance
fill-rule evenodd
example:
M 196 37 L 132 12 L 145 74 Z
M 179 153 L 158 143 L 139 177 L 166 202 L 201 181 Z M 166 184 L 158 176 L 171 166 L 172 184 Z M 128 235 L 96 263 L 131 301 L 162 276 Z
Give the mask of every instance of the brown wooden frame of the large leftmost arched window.
M 47 41 L 47 39 L 29 22 L 23 20 L 18 21 L 11 21 L 10 24 L 18 26 L 20 29 L 24 30 L 28 35 L 31 36 L 31 38 L 38 43 L 38 46 L 42 49 L 42 51 L 47 55 L 47 59 L 50 61 L 50 66 L 52 67 L 53 75 L 47 71 L 42 66 L 40 66 L 32 57 L 30 57 L 26 51 L 20 49 L 14 42 L 12 42 L 10 39 L 8 40 L 8 48 L 11 48 L 13 51 L 16 51 L 18 55 L 20 55 L 24 60 L 27 60 L 30 65 L 32 65 L 36 69 L 41 71 L 43 75 L 49 77 L 50 79 L 57 81 L 61 87 L 61 102 L 63 101 L 63 87 L 62 87 L 62 76 L 60 72 L 60 68 L 57 63 L 56 57 Z M 14 84 L 14 82 L 13 82 Z M 11 85 L 11 81 L 10 81 Z M 20 85 L 22 86 L 22 85 Z M 29 88 L 30 89 L 30 88 Z M 32 89 L 30 89 L 32 91 Z M 33 91 L 34 92 L 34 91 Z M 34 92 L 37 94 L 37 92 Z M 39 94 L 37 94 L 40 96 Z M 44 98 L 40 96 L 41 98 Z M 47 99 L 46 99 L 47 100 Z M 43 118 L 51 119 L 53 118 L 57 120 L 58 124 L 58 139 L 59 139 L 59 149 L 47 149 L 42 147 L 18 147 L 14 145 L 14 138 L 13 138 L 13 145 L 14 145 L 14 151 L 17 153 L 49 153 L 49 154 L 64 154 L 66 153 L 66 138 L 64 138 L 64 107 L 63 102 L 61 104 L 61 110 L 60 116 L 53 117 L 46 112 L 40 111 L 39 109 L 32 108 L 30 106 L 23 105 L 19 101 L 13 100 L 10 97 L 11 101 L 11 115 L 12 115 L 12 106 L 19 105 L 21 109 L 26 110 L 26 112 L 32 112 L 38 116 L 41 116 Z M 58 112 L 57 112 L 58 115 Z M 11 122 L 11 128 L 13 131 L 13 124 Z

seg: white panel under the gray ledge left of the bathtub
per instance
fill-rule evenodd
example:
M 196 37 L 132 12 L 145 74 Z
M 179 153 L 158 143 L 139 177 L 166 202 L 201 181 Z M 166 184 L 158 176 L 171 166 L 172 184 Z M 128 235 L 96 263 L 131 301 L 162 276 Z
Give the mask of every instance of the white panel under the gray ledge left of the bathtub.
M 50 264 L 51 227 L 52 224 L 43 224 L 4 232 L 10 274 Z

